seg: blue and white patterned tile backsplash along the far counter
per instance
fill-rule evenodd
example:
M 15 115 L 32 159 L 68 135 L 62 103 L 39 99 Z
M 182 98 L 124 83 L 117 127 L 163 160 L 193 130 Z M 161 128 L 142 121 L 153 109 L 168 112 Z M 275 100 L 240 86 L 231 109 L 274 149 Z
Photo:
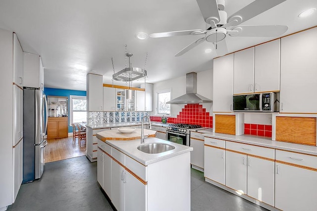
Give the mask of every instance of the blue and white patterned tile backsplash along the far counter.
M 110 124 L 123 122 L 141 122 L 142 117 L 148 114 L 145 111 L 90 111 L 88 125 Z

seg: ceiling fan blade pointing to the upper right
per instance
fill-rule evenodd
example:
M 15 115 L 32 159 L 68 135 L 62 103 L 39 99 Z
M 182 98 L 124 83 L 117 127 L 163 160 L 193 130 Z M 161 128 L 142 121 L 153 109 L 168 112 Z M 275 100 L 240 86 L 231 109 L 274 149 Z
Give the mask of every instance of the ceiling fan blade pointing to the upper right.
M 227 24 L 222 27 L 237 26 L 284 1 L 285 0 L 255 0 L 228 17 Z

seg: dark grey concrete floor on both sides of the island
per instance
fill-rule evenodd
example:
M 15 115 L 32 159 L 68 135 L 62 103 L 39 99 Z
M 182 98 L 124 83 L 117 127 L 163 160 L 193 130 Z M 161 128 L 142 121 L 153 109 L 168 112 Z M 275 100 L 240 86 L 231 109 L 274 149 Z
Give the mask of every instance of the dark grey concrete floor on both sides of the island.
M 97 182 L 97 162 L 86 156 L 45 164 L 40 180 L 23 184 L 8 211 L 112 211 Z M 215 187 L 204 173 L 191 171 L 192 211 L 264 211 Z

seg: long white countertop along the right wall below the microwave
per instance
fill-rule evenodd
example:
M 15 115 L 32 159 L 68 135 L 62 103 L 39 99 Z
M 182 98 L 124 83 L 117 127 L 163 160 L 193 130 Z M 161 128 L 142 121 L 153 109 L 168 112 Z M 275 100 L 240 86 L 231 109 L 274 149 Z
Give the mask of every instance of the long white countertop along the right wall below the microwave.
M 205 133 L 205 137 L 217 138 L 217 139 L 224 139 L 233 142 L 239 142 L 243 144 L 251 144 L 257 145 L 261 147 L 268 147 L 278 150 L 287 150 L 296 153 L 304 153 L 309 155 L 317 156 L 317 147 L 302 145 L 302 144 L 292 144 L 287 142 L 280 142 L 280 141 L 272 141 L 267 138 L 259 138 L 252 135 L 241 135 L 241 136 L 234 136 L 234 135 L 227 135 L 221 133 Z

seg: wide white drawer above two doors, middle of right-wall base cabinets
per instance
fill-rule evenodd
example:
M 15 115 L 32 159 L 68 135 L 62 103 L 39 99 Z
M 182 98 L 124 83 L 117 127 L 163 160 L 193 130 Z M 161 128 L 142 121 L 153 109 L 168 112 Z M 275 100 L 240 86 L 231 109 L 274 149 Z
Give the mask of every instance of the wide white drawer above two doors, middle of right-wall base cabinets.
M 274 149 L 226 141 L 226 149 L 237 152 L 274 159 Z

